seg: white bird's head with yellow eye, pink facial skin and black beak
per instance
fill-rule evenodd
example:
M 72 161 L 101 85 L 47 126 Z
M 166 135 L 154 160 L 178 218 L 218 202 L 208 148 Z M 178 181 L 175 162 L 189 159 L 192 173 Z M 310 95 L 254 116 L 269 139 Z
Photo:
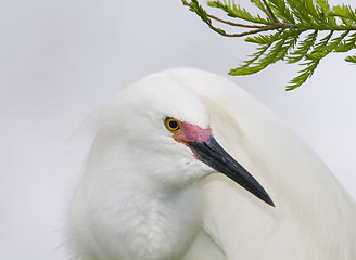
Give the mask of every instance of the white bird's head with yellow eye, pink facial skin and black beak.
M 97 151 L 105 154 L 106 162 L 115 161 L 119 174 L 176 191 L 220 172 L 274 205 L 215 140 L 204 103 L 171 78 L 151 76 L 126 88 L 102 108 L 98 126 L 96 139 L 102 147 Z

